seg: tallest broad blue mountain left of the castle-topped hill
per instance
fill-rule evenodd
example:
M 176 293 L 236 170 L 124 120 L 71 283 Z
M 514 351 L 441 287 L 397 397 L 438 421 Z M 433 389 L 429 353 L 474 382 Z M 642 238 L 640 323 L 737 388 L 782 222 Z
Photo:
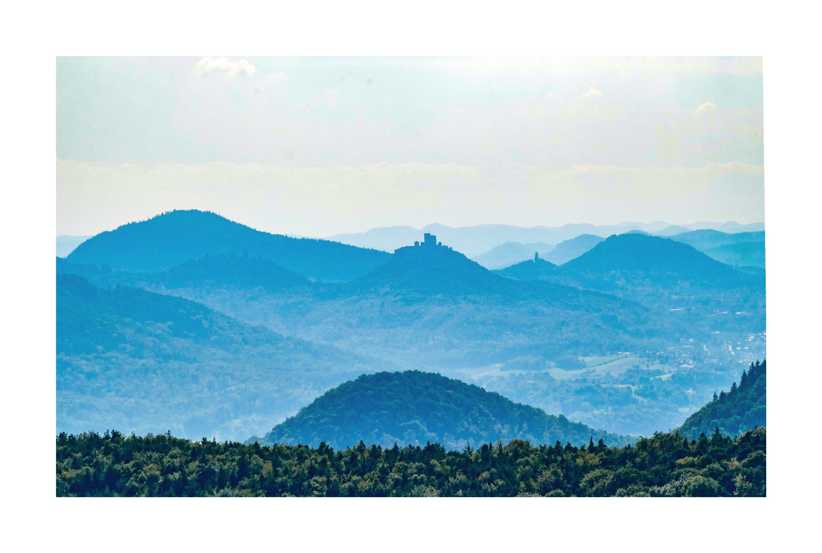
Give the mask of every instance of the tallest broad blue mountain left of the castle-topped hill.
M 363 276 L 390 253 L 320 239 L 271 235 L 207 211 L 170 211 L 86 240 L 68 260 L 113 269 L 156 271 L 206 254 L 270 260 L 298 275 L 328 281 Z

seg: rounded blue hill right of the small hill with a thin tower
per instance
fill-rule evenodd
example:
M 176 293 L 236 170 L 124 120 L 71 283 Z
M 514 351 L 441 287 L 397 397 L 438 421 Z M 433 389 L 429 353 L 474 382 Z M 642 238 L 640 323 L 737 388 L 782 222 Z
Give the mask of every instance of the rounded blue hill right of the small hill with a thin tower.
M 739 281 L 746 278 L 687 244 L 639 233 L 612 235 L 579 258 L 562 266 L 564 272 L 643 272 L 659 278 L 694 282 Z

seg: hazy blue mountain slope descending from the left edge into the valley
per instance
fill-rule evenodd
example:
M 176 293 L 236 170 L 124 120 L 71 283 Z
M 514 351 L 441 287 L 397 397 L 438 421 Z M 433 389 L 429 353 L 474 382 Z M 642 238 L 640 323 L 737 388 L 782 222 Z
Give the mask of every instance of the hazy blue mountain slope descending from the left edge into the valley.
M 146 290 L 57 276 L 58 429 L 238 439 L 385 364 Z M 262 430 L 262 429 L 260 429 Z M 260 431 L 256 430 L 256 431 Z

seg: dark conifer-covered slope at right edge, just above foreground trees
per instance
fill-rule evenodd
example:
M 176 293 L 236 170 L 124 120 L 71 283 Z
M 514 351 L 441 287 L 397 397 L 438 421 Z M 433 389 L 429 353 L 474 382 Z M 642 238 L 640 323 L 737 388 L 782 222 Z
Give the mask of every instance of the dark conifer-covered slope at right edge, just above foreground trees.
M 719 393 L 713 401 L 682 423 L 679 431 L 691 438 L 710 434 L 717 428 L 724 435 L 740 435 L 755 426 L 765 426 L 766 361 L 751 363 L 730 391 Z

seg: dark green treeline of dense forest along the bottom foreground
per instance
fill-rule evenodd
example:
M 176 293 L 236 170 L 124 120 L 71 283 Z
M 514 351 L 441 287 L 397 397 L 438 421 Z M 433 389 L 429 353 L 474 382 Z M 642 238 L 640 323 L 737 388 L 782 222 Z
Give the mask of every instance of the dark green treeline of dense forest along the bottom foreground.
M 765 429 L 736 439 L 656 433 L 623 448 L 515 439 L 461 452 L 62 433 L 57 495 L 764 496 Z

